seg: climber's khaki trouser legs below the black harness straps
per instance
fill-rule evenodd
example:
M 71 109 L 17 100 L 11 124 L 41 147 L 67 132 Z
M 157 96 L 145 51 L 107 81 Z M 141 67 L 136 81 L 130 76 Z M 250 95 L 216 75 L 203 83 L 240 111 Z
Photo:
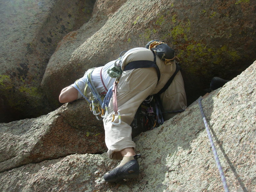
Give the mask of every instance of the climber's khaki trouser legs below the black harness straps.
M 173 110 L 186 108 L 187 103 L 183 79 L 180 72 L 178 74 L 177 78 L 176 76 L 174 78 L 178 85 L 172 85 L 172 88 L 176 88 L 178 91 L 172 90 L 172 93 L 168 93 L 169 95 L 167 96 L 164 96 L 166 94 L 164 92 L 160 96 L 162 99 L 163 97 L 165 98 L 164 105 L 168 105 L 165 108 L 166 110 L 172 107 L 175 108 Z M 123 72 L 117 85 L 117 106 L 121 115 L 121 124 L 113 125 L 111 123 L 112 114 L 114 113 L 113 98 L 111 98 L 108 105 L 108 115 L 103 119 L 105 142 L 108 147 L 107 154 L 110 159 L 122 159 L 120 151 L 125 148 L 135 149 L 136 146 L 132 141 L 132 127 L 130 124 L 140 104 L 148 95 L 154 92 L 156 85 L 157 74 L 155 68 L 138 68 Z M 173 106 L 169 105 L 170 101 Z M 118 123 L 117 116 L 115 116 L 114 122 Z

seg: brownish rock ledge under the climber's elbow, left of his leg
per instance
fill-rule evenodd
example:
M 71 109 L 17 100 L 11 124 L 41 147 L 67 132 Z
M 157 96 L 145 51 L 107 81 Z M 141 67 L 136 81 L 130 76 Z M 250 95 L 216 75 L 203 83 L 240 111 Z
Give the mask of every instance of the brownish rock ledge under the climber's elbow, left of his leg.
M 68 103 L 33 119 L 0 124 L 0 172 L 75 153 L 107 150 L 102 121 L 85 100 Z

